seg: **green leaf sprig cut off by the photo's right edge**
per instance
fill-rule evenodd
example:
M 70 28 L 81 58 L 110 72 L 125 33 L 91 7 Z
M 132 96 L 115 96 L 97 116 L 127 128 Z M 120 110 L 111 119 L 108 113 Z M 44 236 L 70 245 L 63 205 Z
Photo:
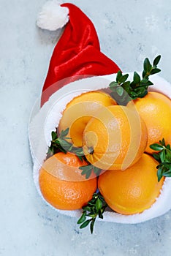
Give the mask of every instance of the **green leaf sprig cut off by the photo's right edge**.
M 164 177 L 171 177 L 171 147 L 166 145 L 164 138 L 159 141 L 159 143 L 154 143 L 150 146 L 154 151 L 158 153 L 153 153 L 153 158 L 159 162 L 157 165 L 157 176 L 158 181 Z

